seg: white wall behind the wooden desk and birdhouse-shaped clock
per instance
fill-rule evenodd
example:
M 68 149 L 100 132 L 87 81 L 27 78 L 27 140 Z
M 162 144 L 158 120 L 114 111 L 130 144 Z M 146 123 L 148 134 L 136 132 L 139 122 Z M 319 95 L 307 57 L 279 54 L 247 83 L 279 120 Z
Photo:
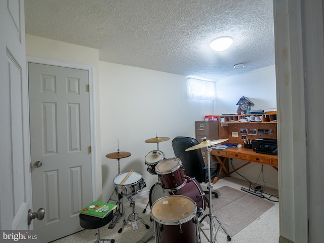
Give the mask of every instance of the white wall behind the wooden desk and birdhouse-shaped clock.
M 219 79 L 216 82 L 216 92 L 215 114 L 236 114 L 236 103 L 242 96 L 248 97 L 254 103 L 251 109 L 276 108 L 275 66 L 271 65 L 251 72 Z M 245 163 L 242 160 L 233 160 L 234 168 Z M 232 169 L 231 166 L 230 169 Z M 261 169 L 262 165 L 251 163 L 240 169 L 238 173 L 252 182 L 256 182 Z M 263 173 L 266 185 L 278 188 L 278 172 L 270 166 L 263 166 Z M 237 173 L 233 173 L 232 176 L 242 178 Z M 259 182 L 263 183 L 260 179 Z

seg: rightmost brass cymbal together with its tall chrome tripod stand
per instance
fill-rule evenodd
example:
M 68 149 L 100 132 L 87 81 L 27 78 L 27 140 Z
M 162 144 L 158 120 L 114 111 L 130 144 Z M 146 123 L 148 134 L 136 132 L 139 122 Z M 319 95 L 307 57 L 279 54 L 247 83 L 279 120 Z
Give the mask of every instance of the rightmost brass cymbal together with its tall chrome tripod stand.
M 213 219 L 215 218 L 217 220 L 217 222 L 219 223 L 219 227 L 221 227 L 224 232 L 226 233 L 227 235 L 227 240 L 230 241 L 231 240 L 231 237 L 228 235 L 226 229 L 224 228 L 224 226 L 222 225 L 222 223 L 219 221 L 219 219 L 216 217 L 216 215 L 214 215 L 212 213 L 212 207 L 213 207 L 213 203 L 212 203 L 212 188 L 213 188 L 213 183 L 211 182 L 211 162 L 210 162 L 210 152 L 212 151 L 212 149 L 210 148 L 210 146 L 212 145 L 215 145 L 215 144 L 219 144 L 219 143 L 222 143 L 222 142 L 225 142 L 227 141 L 227 139 L 218 139 L 218 140 L 213 140 L 213 141 L 210 141 L 210 140 L 207 140 L 207 138 L 203 138 L 203 141 L 197 145 L 194 145 L 190 148 L 187 148 L 185 151 L 190 151 L 190 150 L 194 150 L 194 149 L 199 149 L 199 148 L 207 148 L 207 152 L 208 152 L 208 155 L 207 155 L 207 158 L 208 158 L 208 192 L 209 192 L 209 201 L 210 201 L 210 205 L 209 205 L 209 214 L 206 214 L 199 222 L 203 222 L 203 220 L 206 218 L 206 217 L 209 217 L 209 224 L 210 224 L 210 239 L 209 239 L 209 242 L 215 242 L 216 240 L 216 236 L 217 236 L 217 232 L 218 230 L 216 231 L 215 233 L 215 236 L 214 236 L 214 233 L 213 233 Z M 206 236 L 206 235 L 205 235 Z

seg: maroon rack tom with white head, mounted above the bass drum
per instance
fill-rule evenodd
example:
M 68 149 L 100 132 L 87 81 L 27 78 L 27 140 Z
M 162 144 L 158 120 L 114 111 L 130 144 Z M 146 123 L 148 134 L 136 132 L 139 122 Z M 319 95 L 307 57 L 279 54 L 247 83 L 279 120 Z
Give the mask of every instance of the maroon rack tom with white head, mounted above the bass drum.
M 169 158 L 161 161 L 155 167 L 163 189 L 173 191 L 186 184 L 182 163 L 179 158 Z

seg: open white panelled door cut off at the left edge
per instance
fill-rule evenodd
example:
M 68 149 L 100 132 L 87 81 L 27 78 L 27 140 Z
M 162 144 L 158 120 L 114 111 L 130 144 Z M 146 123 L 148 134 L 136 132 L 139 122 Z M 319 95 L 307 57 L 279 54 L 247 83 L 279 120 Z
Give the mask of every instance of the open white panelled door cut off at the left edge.
M 27 230 L 31 208 L 23 1 L 0 1 L 0 229 Z

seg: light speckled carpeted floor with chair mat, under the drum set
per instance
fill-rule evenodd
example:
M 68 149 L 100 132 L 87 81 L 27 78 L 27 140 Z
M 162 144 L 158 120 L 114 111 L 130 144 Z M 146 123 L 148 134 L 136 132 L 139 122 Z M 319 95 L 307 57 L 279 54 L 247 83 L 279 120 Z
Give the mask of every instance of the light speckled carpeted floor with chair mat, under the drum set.
M 204 190 L 207 190 L 206 185 L 201 185 Z M 213 211 L 217 219 L 222 223 L 225 230 L 231 236 L 233 243 L 276 243 L 279 238 L 279 213 L 278 203 L 272 203 L 265 198 L 260 198 L 240 190 L 244 186 L 248 188 L 248 183 L 233 177 L 225 177 L 214 184 L 213 190 L 217 191 L 219 198 L 213 197 Z M 265 188 L 268 194 L 278 195 L 278 191 L 272 188 Z M 276 198 L 271 198 L 276 199 Z M 116 243 L 140 242 L 144 235 L 152 232 L 154 225 L 150 221 L 150 208 L 147 207 L 145 213 L 143 209 L 146 207 L 149 200 L 148 191 L 141 192 L 135 195 L 135 212 L 138 213 L 145 224 L 150 226 L 146 229 L 145 225 L 137 220 L 138 229 L 134 230 L 131 222 L 128 222 L 121 233 L 117 231 L 123 225 L 123 218 L 113 229 L 108 229 L 108 225 L 100 228 L 102 238 L 113 238 Z M 125 217 L 132 213 L 132 208 L 128 200 L 124 202 Z M 209 213 L 209 208 L 206 208 L 205 214 Z M 217 220 L 214 219 L 216 227 L 219 226 Z M 190 226 L 191 227 L 191 226 Z M 201 243 L 208 243 L 210 238 L 209 217 L 200 224 L 199 236 Z M 214 230 L 215 232 L 216 230 Z M 204 232 L 206 236 L 204 235 Z M 96 239 L 94 230 L 83 230 L 64 238 L 55 240 L 55 243 L 76 243 L 89 242 L 92 243 Z M 170 237 L 172 235 L 165 235 Z M 154 243 L 155 238 L 151 237 L 147 243 Z M 216 235 L 216 242 L 228 242 L 227 235 L 220 229 Z

